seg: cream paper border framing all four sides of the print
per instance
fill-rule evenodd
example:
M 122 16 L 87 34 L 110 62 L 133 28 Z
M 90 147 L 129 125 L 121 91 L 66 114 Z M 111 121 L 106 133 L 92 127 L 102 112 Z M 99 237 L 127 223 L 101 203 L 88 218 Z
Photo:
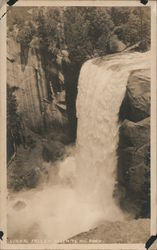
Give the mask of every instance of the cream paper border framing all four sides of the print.
M 138 0 L 19 0 L 16 6 L 142 6 Z M 157 170 L 156 170 L 156 1 L 149 0 L 151 7 L 151 228 L 150 235 L 157 233 Z M 0 16 L 6 12 L 6 4 Z M 6 167 L 6 19 L 0 21 L 0 229 L 4 231 L 0 249 L 145 249 L 144 244 L 7 244 L 7 167 Z M 19 218 L 20 219 L 20 218 Z M 16 226 L 16 225 L 15 225 Z

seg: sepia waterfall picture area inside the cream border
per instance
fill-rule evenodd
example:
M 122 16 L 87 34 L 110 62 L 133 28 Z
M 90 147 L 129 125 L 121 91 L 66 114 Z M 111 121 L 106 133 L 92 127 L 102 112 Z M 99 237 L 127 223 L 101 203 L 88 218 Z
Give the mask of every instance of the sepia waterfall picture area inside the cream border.
M 145 244 L 152 7 L 7 10 L 7 244 Z

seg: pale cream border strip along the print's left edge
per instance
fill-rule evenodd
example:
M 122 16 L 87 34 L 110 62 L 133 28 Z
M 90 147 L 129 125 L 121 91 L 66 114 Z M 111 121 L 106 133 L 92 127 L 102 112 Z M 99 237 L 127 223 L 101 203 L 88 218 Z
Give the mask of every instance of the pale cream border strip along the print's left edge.
M 0 16 L 5 12 L 6 5 L 0 9 Z M 4 232 L 7 224 L 6 75 L 6 16 L 4 16 L 0 20 L 0 228 L 3 228 Z M 6 235 L 4 242 L 0 242 L 0 249 L 5 249 L 5 243 Z

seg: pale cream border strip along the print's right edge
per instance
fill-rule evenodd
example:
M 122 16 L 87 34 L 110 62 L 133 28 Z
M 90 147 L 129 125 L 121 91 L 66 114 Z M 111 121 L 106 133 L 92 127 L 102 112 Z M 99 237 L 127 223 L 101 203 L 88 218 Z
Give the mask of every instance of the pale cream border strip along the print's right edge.
M 157 2 L 151 7 L 151 235 L 157 233 Z

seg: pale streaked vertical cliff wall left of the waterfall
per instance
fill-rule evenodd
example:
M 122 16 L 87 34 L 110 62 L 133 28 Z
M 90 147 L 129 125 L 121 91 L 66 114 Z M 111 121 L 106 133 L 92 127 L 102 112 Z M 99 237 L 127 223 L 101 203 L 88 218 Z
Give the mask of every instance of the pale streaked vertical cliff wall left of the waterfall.
M 64 122 L 57 102 L 65 101 L 65 94 L 54 95 L 46 76 L 37 42 L 29 46 L 8 39 L 7 83 L 16 86 L 18 112 L 24 123 L 36 131 L 44 131 L 54 120 Z M 51 95 L 51 98 L 50 98 Z

